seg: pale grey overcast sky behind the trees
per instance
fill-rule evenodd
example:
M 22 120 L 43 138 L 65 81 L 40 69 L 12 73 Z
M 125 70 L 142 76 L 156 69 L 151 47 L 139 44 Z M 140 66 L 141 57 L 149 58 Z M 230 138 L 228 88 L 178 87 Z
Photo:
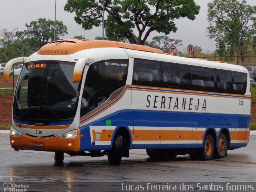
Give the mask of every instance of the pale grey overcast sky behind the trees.
M 170 38 L 182 40 L 183 47 L 178 47 L 183 51 L 189 44 L 201 46 L 203 52 L 213 52 L 215 50 L 215 41 L 207 36 L 208 27 L 207 4 L 212 0 L 194 0 L 201 6 L 199 14 L 194 21 L 186 18 L 176 20 L 178 28 L 176 33 L 168 34 Z M 85 36 L 87 39 L 94 39 L 96 36 L 102 36 L 102 28 L 84 30 L 74 21 L 74 13 L 64 11 L 67 0 L 57 0 L 56 20 L 63 21 L 68 27 L 68 34 L 64 38 L 73 38 L 76 35 Z M 256 0 L 247 0 L 247 4 L 256 5 Z M 7 28 L 23 31 L 25 24 L 38 18 L 54 20 L 55 0 L 0 0 L 0 30 Z M 136 32 L 135 32 L 136 34 Z M 138 35 L 138 34 L 137 34 Z M 147 40 L 151 41 L 154 36 L 160 36 L 157 32 L 152 32 Z

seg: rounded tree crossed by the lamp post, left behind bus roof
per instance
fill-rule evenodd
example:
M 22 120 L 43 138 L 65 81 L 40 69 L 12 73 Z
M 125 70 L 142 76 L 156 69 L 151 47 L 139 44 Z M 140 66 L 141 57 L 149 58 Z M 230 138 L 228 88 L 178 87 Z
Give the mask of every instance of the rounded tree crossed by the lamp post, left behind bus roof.
M 27 30 L 24 30 L 26 37 L 38 45 L 38 49 L 54 40 L 54 21 L 46 18 L 39 18 L 37 21 L 32 21 L 25 25 Z M 56 38 L 68 34 L 67 27 L 62 21 L 56 20 Z

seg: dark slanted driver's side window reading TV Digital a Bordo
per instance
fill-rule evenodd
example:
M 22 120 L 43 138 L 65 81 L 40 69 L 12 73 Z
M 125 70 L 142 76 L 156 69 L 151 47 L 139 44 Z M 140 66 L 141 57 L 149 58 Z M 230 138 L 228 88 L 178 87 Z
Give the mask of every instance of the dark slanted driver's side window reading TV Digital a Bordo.
M 128 60 L 104 60 L 91 64 L 84 83 L 80 116 L 100 106 L 114 91 L 125 86 L 127 73 Z

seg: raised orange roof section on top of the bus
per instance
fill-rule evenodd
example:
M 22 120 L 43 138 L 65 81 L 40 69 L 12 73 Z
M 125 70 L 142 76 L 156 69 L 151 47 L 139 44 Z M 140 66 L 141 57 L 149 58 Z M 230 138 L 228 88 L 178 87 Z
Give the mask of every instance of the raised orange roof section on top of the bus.
M 66 39 L 66 40 L 57 40 L 50 42 L 40 48 L 37 52 L 40 55 L 69 55 L 74 54 L 75 52 L 91 49 L 91 48 L 126 48 L 132 50 L 146 51 L 164 54 L 159 49 L 151 48 L 148 46 L 115 42 L 115 41 L 102 41 L 102 40 L 88 40 L 88 39 Z

